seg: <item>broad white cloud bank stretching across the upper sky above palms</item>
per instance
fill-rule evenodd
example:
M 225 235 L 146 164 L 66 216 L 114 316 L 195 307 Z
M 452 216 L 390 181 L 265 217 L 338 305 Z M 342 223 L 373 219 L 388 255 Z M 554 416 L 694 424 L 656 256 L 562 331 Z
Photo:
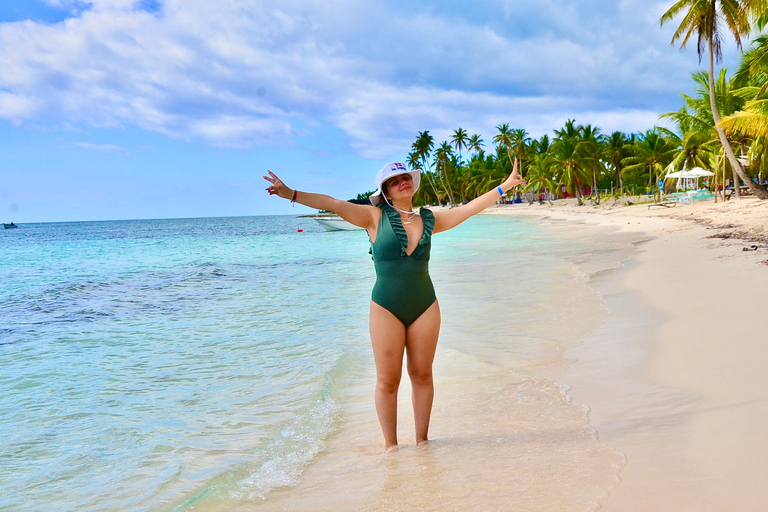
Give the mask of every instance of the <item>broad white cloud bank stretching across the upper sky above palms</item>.
M 297 124 L 331 122 L 378 158 L 424 129 L 490 138 L 510 122 L 539 134 L 570 117 L 650 127 L 696 65 L 669 47 L 674 27 L 659 30 L 658 0 L 507 0 L 469 13 L 352 0 L 88 4 L 55 25 L 0 24 L 0 119 L 134 125 L 227 147 L 290 144 Z

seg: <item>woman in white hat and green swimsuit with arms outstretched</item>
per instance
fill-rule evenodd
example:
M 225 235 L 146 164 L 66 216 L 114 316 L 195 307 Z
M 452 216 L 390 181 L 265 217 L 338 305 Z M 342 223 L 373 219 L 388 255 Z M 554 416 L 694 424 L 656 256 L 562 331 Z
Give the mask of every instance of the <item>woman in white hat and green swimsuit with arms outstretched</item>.
M 421 173 L 401 163 L 384 166 L 376 175 L 377 190 L 371 205 L 353 204 L 333 197 L 288 188 L 272 171 L 264 179 L 267 191 L 283 199 L 332 211 L 347 222 L 365 228 L 371 240 L 376 284 L 370 304 L 369 328 L 376 364 L 376 412 L 384 434 L 384 449 L 397 447 L 397 390 L 407 354 L 413 389 L 416 444 L 427 442 L 434 386 L 432 362 L 440 332 L 440 307 L 429 278 L 429 252 L 434 233 L 448 231 L 525 184 L 515 163 L 500 186 L 469 203 L 446 211 L 413 210 L 413 197 Z

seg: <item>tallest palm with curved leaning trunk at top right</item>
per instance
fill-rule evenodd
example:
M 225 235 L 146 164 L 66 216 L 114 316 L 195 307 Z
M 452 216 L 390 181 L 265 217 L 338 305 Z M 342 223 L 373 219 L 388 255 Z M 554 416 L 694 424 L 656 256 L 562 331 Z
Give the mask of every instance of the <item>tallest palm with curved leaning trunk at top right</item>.
M 763 2 L 761 2 L 763 3 Z M 765 187 L 755 184 L 736 159 L 733 153 L 725 131 L 718 124 L 720 114 L 715 103 L 715 59 L 718 62 L 722 59 L 721 51 L 721 32 L 719 23 L 721 20 L 728 26 L 728 30 L 736 40 L 736 45 L 741 49 L 741 37 L 749 32 L 749 10 L 744 9 L 739 0 L 678 0 L 667 12 L 665 12 L 660 23 L 672 20 L 679 13 L 684 13 L 680 26 L 675 30 L 671 43 L 682 38 L 680 47 L 684 48 L 693 34 L 697 36 L 697 52 L 699 62 L 705 47 L 709 50 L 709 99 L 712 108 L 712 116 L 720 138 L 720 143 L 728 157 L 731 167 L 736 171 L 739 177 L 747 184 L 760 199 L 768 199 L 768 190 Z

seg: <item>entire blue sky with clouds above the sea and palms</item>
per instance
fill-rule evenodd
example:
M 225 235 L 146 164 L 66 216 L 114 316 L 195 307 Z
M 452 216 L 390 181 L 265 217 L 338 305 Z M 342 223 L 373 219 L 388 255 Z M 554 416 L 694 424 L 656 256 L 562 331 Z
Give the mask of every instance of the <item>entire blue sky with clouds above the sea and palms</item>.
M 644 130 L 698 66 L 669 5 L 2 0 L 0 219 L 306 213 L 266 169 L 348 199 L 421 130 Z

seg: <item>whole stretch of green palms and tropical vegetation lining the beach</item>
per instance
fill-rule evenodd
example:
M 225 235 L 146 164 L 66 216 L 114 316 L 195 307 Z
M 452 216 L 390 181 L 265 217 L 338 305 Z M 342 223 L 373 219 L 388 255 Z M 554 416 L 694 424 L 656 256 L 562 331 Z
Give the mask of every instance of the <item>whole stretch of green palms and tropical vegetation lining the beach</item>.
M 663 114 L 664 124 L 639 133 L 602 133 L 597 126 L 566 121 L 552 135 L 539 138 L 509 123 L 487 139 L 457 128 L 436 142 L 429 131 L 417 134 L 408 156 L 422 173 L 421 204 L 456 205 L 498 185 L 515 158 L 527 180 L 512 196 L 551 200 L 572 196 L 578 204 L 606 196 L 660 199 L 670 171 L 718 172 L 712 188 L 748 187 L 768 199 L 768 0 L 678 0 L 660 23 L 679 19 L 672 44 L 685 47 L 693 38 L 699 62 L 708 69 L 692 74 L 691 94 L 682 95 L 678 111 Z M 756 34 L 731 76 L 716 70 L 724 37 L 742 42 Z M 660 188 L 661 187 L 661 188 Z M 736 194 L 740 187 L 732 187 Z

